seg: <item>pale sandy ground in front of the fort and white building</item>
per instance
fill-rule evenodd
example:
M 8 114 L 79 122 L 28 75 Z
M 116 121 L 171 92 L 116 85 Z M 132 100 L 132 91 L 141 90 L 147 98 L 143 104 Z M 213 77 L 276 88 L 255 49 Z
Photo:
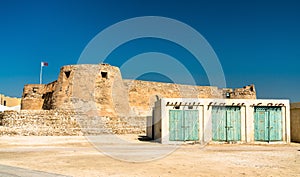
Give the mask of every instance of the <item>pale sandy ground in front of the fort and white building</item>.
M 137 135 L 92 138 L 0 137 L 0 176 L 300 176 L 295 143 L 174 146 Z

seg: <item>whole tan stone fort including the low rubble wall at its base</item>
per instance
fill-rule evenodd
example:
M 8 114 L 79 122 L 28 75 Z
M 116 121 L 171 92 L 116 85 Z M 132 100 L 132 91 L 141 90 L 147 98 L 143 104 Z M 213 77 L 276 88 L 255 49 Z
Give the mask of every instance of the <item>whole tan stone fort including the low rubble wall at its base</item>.
M 160 98 L 256 99 L 254 85 L 217 88 L 125 80 L 108 64 L 68 65 L 48 84 L 24 86 L 21 111 L 0 114 L 2 134 L 145 133 Z M 3 133 L 4 132 L 4 133 Z

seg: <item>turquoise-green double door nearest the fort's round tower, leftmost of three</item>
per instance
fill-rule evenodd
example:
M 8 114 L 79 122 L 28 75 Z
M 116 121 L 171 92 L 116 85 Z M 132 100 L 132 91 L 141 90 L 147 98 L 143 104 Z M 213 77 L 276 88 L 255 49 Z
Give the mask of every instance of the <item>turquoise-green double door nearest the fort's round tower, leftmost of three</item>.
M 199 140 L 198 110 L 170 110 L 170 141 Z

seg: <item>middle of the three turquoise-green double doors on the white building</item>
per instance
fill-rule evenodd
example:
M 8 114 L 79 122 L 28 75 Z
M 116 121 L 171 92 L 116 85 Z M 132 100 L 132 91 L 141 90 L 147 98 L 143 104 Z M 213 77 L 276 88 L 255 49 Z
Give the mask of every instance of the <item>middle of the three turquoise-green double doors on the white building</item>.
M 237 106 L 213 106 L 212 132 L 212 139 L 215 141 L 241 140 L 241 108 Z

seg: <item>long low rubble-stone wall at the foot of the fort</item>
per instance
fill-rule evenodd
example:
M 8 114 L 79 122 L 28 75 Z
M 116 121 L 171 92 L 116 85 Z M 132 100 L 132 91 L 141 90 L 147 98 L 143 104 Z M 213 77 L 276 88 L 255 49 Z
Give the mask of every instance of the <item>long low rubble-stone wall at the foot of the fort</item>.
M 99 117 L 65 110 L 21 110 L 0 112 L 0 135 L 82 136 L 140 134 L 145 117 Z

